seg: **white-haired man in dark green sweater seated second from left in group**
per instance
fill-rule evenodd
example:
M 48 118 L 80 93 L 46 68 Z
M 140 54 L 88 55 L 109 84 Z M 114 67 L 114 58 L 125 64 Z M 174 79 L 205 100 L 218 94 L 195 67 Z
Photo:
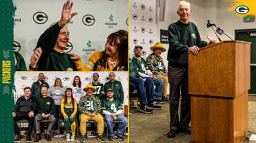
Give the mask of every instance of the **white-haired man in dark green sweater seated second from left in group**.
M 46 136 L 44 138 L 47 141 L 51 141 L 51 131 L 54 123 L 56 121 L 54 117 L 55 105 L 54 100 L 51 97 L 47 96 L 48 90 L 46 87 L 41 88 L 42 97 L 38 99 L 38 114 L 35 116 L 35 130 L 37 137 L 34 139 L 34 142 L 38 142 L 41 139 L 40 135 L 40 121 L 43 119 L 49 119 L 48 129 L 46 131 Z

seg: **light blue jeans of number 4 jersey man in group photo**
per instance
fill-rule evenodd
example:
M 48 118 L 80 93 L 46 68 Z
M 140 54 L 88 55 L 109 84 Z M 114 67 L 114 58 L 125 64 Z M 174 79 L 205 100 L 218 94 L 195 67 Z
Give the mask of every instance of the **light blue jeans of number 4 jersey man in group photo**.
M 123 114 L 116 115 L 116 118 L 120 121 L 120 126 L 118 131 L 116 131 L 116 135 L 123 136 L 124 130 L 126 130 L 128 125 L 128 119 Z M 108 136 L 114 136 L 112 115 L 105 115 L 105 120 L 107 122 Z

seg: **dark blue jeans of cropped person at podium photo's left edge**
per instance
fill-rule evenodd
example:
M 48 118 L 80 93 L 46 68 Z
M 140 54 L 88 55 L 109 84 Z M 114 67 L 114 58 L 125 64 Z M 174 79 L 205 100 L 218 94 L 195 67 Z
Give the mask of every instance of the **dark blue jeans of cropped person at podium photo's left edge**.
M 131 96 L 133 90 L 135 89 L 135 87 L 137 88 L 138 91 L 138 97 L 140 99 L 140 103 L 142 104 L 148 104 L 148 99 L 147 99 L 147 95 L 146 95 L 146 91 L 145 91 L 145 85 L 144 85 L 144 81 L 141 78 L 129 78 L 129 93 Z M 132 86 L 131 86 L 132 85 Z

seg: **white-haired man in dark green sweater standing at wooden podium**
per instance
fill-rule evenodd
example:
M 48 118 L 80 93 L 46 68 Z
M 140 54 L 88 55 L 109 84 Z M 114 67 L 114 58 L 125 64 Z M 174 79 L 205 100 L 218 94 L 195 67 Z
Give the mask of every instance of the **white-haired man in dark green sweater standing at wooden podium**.
M 168 78 L 169 78 L 169 110 L 170 131 L 169 138 L 174 138 L 178 131 L 191 132 L 190 123 L 190 95 L 188 95 L 188 52 L 197 55 L 199 47 L 214 44 L 201 41 L 196 25 L 188 18 L 191 14 L 190 3 L 181 1 L 177 9 L 179 21 L 168 27 Z M 180 105 L 180 121 L 178 115 L 180 89 L 182 101 Z

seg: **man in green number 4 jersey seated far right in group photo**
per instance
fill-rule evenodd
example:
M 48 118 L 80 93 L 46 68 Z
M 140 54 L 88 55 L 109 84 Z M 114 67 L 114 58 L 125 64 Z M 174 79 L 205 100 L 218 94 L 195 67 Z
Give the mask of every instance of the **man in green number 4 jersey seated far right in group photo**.
M 123 115 L 121 103 L 118 99 L 113 98 L 113 95 L 112 88 L 108 88 L 107 99 L 104 99 L 102 103 L 102 114 L 105 115 L 108 128 L 108 140 L 113 141 L 114 138 L 117 138 L 124 141 L 123 133 L 128 125 L 128 119 Z M 115 134 L 113 132 L 113 120 L 118 120 L 121 123 Z

